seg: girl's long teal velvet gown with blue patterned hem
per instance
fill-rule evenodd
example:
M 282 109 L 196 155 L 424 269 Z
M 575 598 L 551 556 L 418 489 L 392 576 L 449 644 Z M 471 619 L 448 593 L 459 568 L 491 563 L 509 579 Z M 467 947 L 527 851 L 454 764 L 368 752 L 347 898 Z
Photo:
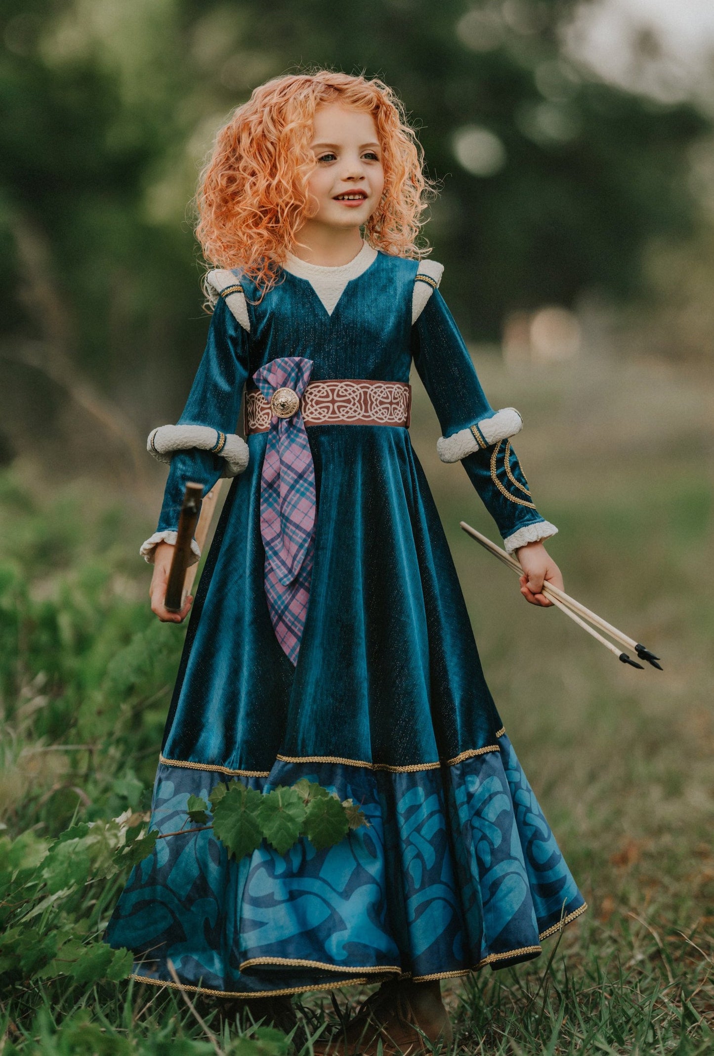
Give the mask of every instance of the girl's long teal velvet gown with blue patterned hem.
M 412 324 L 416 274 L 379 252 L 328 315 L 304 279 L 283 271 L 260 300 L 237 271 L 249 333 L 220 299 L 181 422 L 233 432 L 246 380 L 281 356 L 313 360 L 312 380 L 407 382 L 414 361 L 445 436 L 493 415 L 437 290 Z M 307 435 L 315 565 L 297 665 L 265 600 L 257 433 L 195 592 L 151 827 L 181 828 L 190 794 L 233 777 L 261 791 L 319 781 L 370 826 L 326 850 L 301 840 L 239 862 L 210 831 L 158 841 L 108 930 L 148 982 L 171 985 L 169 960 L 188 987 L 224 996 L 465 975 L 537 957 L 586 908 L 484 679 L 409 431 Z M 504 538 L 543 523 L 507 459 L 463 459 Z M 158 528 L 175 529 L 187 479 L 207 492 L 222 469 L 210 452 L 174 454 Z

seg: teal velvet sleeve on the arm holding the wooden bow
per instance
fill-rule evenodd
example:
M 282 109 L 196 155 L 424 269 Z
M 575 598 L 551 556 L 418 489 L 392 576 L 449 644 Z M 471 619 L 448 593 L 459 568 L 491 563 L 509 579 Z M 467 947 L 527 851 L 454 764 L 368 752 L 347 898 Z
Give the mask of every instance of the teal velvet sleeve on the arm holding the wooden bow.
M 209 426 L 223 433 L 234 433 L 247 375 L 248 335 L 221 298 L 211 319 L 206 348 L 176 425 Z M 202 484 L 206 495 L 223 475 L 224 468 L 222 456 L 210 451 L 190 448 L 174 452 L 156 532 L 142 547 L 147 560 L 153 559 L 153 549 L 162 539 L 175 541 L 171 533 L 178 526 L 186 483 L 194 480 Z

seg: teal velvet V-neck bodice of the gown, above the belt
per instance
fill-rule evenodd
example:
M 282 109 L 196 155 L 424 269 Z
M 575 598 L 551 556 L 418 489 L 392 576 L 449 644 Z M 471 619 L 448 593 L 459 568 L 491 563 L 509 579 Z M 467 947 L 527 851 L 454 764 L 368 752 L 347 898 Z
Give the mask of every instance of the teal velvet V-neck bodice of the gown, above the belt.
M 284 268 L 262 299 L 255 284 L 241 277 L 250 319 L 250 374 L 271 359 L 303 356 L 313 361 L 316 381 L 408 382 L 417 267 L 417 261 L 377 252 L 367 268 L 346 280 L 332 314 L 302 275 Z

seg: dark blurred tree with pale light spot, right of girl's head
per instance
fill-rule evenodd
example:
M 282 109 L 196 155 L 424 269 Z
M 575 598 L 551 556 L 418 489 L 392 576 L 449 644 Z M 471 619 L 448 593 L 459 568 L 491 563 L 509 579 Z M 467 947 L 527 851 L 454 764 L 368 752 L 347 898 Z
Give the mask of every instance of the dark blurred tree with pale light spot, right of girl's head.
M 694 221 L 685 148 L 707 119 L 588 79 L 561 54 L 560 31 L 575 6 L 241 5 L 242 54 L 268 48 L 271 72 L 299 58 L 378 73 L 400 92 L 443 183 L 428 237 L 471 337 L 495 337 L 513 308 L 571 305 L 587 287 L 641 293 L 650 238 L 683 234 Z M 240 55 L 217 71 L 228 87 L 242 87 Z

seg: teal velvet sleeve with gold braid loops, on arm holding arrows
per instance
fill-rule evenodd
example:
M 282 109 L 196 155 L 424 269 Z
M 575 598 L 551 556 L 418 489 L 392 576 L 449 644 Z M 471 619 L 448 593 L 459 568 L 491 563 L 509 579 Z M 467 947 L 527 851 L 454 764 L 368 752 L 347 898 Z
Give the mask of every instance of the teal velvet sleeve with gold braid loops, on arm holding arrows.
M 464 339 L 438 290 L 434 290 L 412 327 L 412 355 L 445 437 L 471 430 L 494 416 Z M 477 450 L 462 461 L 506 541 L 506 549 L 512 551 L 553 535 L 558 529 L 536 509 L 510 440 L 489 445 L 478 429 L 472 432 Z

